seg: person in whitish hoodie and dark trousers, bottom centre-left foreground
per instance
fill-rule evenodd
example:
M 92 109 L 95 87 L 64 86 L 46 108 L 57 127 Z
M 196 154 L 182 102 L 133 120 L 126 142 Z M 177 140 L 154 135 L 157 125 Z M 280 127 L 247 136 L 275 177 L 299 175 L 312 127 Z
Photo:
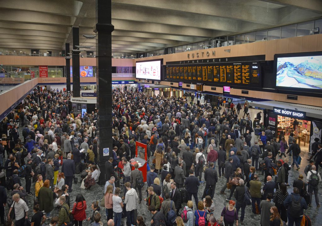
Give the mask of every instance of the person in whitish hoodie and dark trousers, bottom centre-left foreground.
M 127 226 L 134 225 L 136 222 L 134 219 L 134 212 L 137 209 L 136 208 L 136 200 L 138 199 L 137 192 L 134 188 L 131 188 L 131 183 L 126 182 L 126 194 L 125 194 L 125 201 L 126 204 L 126 223 Z

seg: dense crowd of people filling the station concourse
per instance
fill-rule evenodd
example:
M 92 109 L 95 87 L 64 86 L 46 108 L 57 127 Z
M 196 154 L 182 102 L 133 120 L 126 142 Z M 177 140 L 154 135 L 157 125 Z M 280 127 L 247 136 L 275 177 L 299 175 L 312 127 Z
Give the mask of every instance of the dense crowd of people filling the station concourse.
M 106 218 L 108 226 L 120 226 L 126 217 L 128 226 L 238 226 L 247 225 L 245 209 L 250 205 L 253 214 L 260 214 L 257 225 L 298 226 L 303 218 L 309 221 L 304 210 L 311 206 L 312 194 L 320 206 L 318 138 L 305 175 L 299 174 L 289 194 L 289 174 L 296 172 L 292 166 L 299 169 L 300 147 L 292 134 L 288 141 L 283 134 L 276 139 L 270 127 L 264 127 L 261 112 L 252 121 L 249 102 L 235 106 L 230 99 L 228 104 L 219 99 L 212 106 L 194 103 L 194 94 L 188 92 L 183 97 L 160 97 L 119 88 L 112 97 L 113 150 L 103 167 L 104 190 L 99 186 L 103 183 L 98 184 L 98 111 L 76 114 L 68 108 L 66 92 L 35 89 L 2 120 L 2 224 L 12 225 L 15 219 L 15 225 L 22 226 L 28 219 L 31 226 L 81 226 L 86 221 L 98 226 Z M 147 145 L 146 182 L 139 164 L 133 170 L 130 165 L 136 141 Z M 286 154 L 292 156 L 291 165 Z M 223 186 L 215 193 L 222 176 Z M 81 193 L 70 199 L 79 177 L 82 189 L 90 193 L 97 188 L 103 194 L 101 200 L 88 200 L 94 201 L 90 216 Z M 34 196 L 32 202 L 28 196 Z M 219 196 L 227 201 L 223 209 L 216 206 Z M 138 215 L 142 202 L 151 222 Z M 58 216 L 52 214 L 55 208 Z

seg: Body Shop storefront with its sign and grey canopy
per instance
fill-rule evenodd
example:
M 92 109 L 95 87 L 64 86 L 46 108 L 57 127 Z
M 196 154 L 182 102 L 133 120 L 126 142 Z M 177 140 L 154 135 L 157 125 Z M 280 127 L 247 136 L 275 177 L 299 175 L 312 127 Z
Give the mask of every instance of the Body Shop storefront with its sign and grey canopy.
M 322 110 L 312 106 L 292 105 L 279 101 L 255 102 L 256 107 L 264 108 L 264 126 L 270 126 L 277 141 L 294 134 L 302 151 L 311 152 L 314 138 L 321 140 Z

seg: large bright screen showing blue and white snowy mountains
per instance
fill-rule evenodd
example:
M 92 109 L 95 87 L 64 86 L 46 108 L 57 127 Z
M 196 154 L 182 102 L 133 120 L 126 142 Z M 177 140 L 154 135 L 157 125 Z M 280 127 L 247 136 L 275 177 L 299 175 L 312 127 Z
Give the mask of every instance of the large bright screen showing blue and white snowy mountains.
M 278 58 L 276 86 L 322 89 L 322 56 Z

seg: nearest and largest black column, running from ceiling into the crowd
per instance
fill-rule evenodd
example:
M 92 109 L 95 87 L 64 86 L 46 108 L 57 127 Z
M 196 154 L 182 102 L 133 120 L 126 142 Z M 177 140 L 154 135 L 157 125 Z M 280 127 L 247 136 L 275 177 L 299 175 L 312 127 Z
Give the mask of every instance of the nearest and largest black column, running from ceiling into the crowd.
M 99 168 L 101 184 L 105 178 L 105 162 L 112 153 L 112 31 L 111 0 L 96 0 L 96 83 L 99 122 Z M 109 148 L 109 155 L 103 149 Z

